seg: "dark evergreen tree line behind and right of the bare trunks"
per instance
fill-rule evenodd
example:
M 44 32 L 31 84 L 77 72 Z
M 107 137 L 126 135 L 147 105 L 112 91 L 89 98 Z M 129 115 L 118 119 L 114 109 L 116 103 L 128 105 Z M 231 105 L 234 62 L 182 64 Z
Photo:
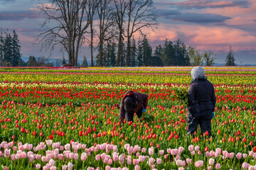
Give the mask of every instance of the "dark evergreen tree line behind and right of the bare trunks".
M 126 47 L 123 46 L 120 56 L 120 66 L 126 66 Z M 129 67 L 142 66 L 189 66 L 189 65 L 206 65 L 215 64 L 215 55 L 213 52 L 199 52 L 193 47 L 186 47 L 185 43 L 178 40 L 165 40 L 164 45 L 151 47 L 149 40 L 144 37 L 136 42 L 132 38 L 131 55 Z M 85 61 L 86 59 L 84 59 Z M 102 50 L 102 66 L 115 67 L 117 60 L 117 47 L 114 44 L 107 43 Z M 95 66 L 100 66 L 100 55 L 96 57 Z

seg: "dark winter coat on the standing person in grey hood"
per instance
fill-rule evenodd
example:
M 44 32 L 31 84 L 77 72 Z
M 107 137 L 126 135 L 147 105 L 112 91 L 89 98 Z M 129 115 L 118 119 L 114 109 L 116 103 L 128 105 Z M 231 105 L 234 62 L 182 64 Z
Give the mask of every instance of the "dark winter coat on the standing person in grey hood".
M 213 84 L 207 79 L 196 79 L 188 89 L 188 111 L 191 114 L 199 111 L 214 111 L 216 103 Z

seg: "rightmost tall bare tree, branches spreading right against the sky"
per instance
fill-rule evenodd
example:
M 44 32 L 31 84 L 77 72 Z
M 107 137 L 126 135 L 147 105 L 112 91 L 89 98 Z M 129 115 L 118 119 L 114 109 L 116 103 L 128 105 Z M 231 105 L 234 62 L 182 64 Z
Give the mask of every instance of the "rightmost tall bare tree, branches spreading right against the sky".
M 131 55 L 131 39 L 134 33 L 144 35 L 142 28 L 156 28 L 157 16 L 154 13 L 153 1 L 151 0 L 129 0 L 126 10 L 127 28 L 125 37 L 127 38 L 127 54 L 125 66 L 129 66 Z

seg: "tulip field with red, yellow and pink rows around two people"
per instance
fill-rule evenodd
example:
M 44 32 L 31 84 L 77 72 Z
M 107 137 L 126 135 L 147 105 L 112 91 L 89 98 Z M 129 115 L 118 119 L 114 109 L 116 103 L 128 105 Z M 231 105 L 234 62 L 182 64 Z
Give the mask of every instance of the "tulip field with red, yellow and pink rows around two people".
M 193 67 L 0 67 L 0 169 L 254 169 L 256 67 L 203 67 L 215 87 L 212 136 L 186 135 Z M 154 121 L 119 124 L 124 94 Z

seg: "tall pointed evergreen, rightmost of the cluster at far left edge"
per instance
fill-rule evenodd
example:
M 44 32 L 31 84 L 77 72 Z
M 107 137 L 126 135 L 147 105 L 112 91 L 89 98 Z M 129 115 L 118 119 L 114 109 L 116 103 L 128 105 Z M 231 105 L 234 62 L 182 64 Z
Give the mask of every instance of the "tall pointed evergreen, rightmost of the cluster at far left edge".
M 19 62 L 21 62 L 21 45 L 18 40 L 18 35 L 16 34 L 16 31 L 14 30 L 14 35 L 12 38 L 12 65 L 18 66 Z

